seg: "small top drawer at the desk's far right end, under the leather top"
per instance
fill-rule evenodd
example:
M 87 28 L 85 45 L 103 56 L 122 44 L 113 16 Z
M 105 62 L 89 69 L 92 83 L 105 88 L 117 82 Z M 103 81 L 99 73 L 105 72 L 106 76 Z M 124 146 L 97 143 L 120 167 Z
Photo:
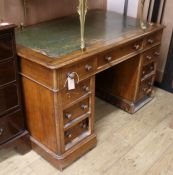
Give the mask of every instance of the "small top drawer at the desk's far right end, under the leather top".
M 162 31 L 155 32 L 145 38 L 144 48 L 152 47 L 155 44 L 159 44 L 162 39 Z

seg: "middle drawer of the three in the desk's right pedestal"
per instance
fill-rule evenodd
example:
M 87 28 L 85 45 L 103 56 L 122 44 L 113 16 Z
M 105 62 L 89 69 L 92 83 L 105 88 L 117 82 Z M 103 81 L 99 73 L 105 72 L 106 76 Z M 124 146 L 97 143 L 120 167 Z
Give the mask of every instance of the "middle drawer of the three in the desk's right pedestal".
M 151 73 L 154 74 L 155 73 L 155 69 L 156 69 L 155 62 L 151 62 L 151 63 L 143 66 L 141 79 L 144 79 L 147 75 L 150 75 Z

